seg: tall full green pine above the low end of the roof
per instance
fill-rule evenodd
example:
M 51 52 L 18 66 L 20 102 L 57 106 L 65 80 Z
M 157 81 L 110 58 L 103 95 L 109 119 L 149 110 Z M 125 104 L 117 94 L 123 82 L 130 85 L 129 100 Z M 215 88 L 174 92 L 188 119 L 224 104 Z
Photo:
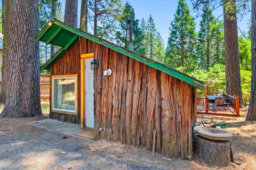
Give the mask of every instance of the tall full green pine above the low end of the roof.
M 178 8 L 171 22 L 170 36 L 165 52 L 165 62 L 173 67 L 186 68 L 185 72 L 196 68 L 195 21 L 190 15 L 185 0 L 179 0 Z

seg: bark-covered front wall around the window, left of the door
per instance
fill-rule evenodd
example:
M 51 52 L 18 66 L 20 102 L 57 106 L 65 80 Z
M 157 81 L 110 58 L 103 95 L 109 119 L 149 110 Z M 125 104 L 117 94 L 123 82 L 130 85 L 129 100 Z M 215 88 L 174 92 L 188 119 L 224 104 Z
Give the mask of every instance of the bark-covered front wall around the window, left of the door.
M 53 113 L 50 111 L 50 118 L 58 119 L 63 122 L 80 123 L 80 52 L 79 42 L 67 50 L 58 61 L 51 66 L 51 75 L 77 74 L 77 115 Z M 52 85 L 52 82 L 51 82 Z M 52 87 L 52 86 L 51 86 Z M 51 100 L 50 100 L 51 105 Z M 51 106 L 50 106 L 51 108 Z

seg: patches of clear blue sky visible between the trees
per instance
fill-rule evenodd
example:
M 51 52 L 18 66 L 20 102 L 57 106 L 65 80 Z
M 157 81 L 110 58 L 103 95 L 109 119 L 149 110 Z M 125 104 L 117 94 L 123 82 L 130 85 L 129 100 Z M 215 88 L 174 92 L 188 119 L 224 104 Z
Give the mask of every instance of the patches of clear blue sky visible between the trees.
M 62 14 L 65 11 L 65 0 L 60 0 L 62 3 Z M 156 29 L 160 32 L 164 44 L 166 47 L 167 40 L 169 37 L 169 27 L 171 21 L 174 19 L 174 14 L 177 10 L 178 0 L 129 0 L 130 4 L 133 6 L 135 11 L 135 17 L 139 20 L 144 18 L 146 21 L 151 14 L 153 16 L 154 22 L 156 24 Z M 193 11 L 193 6 L 190 0 L 186 0 L 190 14 L 195 18 L 196 31 L 199 30 L 200 17 L 196 18 L 196 13 Z M 81 8 L 81 0 L 78 0 L 78 14 Z M 219 7 L 217 10 L 213 11 L 213 16 L 217 18 L 223 14 L 223 8 Z M 243 18 L 238 18 L 237 25 L 244 32 L 248 31 L 249 19 L 251 18 L 251 13 L 247 13 Z M 223 16 L 220 16 L 220 20 L 223 20 Z

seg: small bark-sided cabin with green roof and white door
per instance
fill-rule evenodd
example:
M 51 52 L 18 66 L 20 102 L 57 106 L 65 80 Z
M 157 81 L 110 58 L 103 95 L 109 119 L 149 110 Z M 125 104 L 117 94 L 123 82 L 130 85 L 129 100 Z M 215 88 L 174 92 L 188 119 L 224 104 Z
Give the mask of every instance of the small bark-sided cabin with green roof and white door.
M 94 139 L 190 159 L 196 88 L 203 82 L 58 20 L 36 41 L 60 46 L 51 72 L 50 118 L 93 128 Z

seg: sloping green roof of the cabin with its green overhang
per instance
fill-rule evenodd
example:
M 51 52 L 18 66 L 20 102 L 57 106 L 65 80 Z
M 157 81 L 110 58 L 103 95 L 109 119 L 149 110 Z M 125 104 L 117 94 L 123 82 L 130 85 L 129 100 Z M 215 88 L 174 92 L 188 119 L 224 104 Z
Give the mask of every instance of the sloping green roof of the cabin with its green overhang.
M 95 43 L 99 43 L 121 54 L 129 56 L 134 60 L 137 60 L 141 63 L 154 67 L 157 70 L 172 75 L 177 79 L 187 82 L 195 88 L 204 89 L 204 82 L 202 81 L 190 77 L 187 74 L 181 73 L 178 70 L 175 70 L 169 66 L 151 60 L 145 56 L 131 52 L 130 50 L 127 50 L 123 47 L 110 43 L 109 41 L 103 40 L 98 37 L 94 37 L 89 33 L 70 27 L 69 25 L 55 19 L 53 19 L 51 22 L 48 22 L 45 25 L 45 27 L 38 33 L 35 40 L 43 41 L 46 44 L 57 45 L 62 48 L 60 48 L 59 51 L 50 58 L 50 60 L 48 60 L 44 65 L 42 65 L 41 70 L 50 69 L 53 63 L 55 63 L 63 54 L 65 54 L 69 48 L 73 47 L 73 45 L 77 42 L 79 36 L 94 41 Z

